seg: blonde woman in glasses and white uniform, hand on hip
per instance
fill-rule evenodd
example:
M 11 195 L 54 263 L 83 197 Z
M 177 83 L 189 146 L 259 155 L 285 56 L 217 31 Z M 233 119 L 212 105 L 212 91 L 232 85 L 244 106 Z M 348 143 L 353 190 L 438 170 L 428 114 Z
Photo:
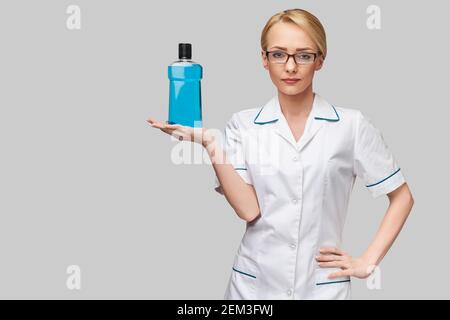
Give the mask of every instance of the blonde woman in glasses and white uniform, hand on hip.
M 269 19 L 262 62 L 277 88 L 263 107 L 232 115 L 222 148 L 210 130 L 147 120 L 201 143 L 216 190 L 247 221 L 226 299 L 349 299 L 351 277 L 367 278 L 392 246 L 413 197 L 381 132 L 355 109 L 313 92 L 326 54 L 320 21 L 301 9 Z M 356 176 L 389 207 L 360 257 L 341 249 Z

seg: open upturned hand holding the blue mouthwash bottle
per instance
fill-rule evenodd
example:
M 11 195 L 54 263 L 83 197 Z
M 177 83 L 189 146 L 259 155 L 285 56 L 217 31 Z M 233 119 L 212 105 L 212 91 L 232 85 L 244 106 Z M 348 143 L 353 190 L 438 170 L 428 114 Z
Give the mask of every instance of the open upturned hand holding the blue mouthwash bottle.
M 208 132 L 206 128 L 192 128 L 180 124 L 169 124 L 156 121 L 153 118 L 148 118 L 147 122 L 153 127 L 175 137 L 178 140 L 192 141 L 199 143 L 206 147 L 214 137 Z

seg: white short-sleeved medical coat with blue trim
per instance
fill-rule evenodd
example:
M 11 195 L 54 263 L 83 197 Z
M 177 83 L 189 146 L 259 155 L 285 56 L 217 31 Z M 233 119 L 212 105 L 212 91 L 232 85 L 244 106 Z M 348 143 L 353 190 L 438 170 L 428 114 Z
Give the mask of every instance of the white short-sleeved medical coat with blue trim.
M 356 176 L 374 198 L 405 182 L 381 132 L 360 111 L 315 93 L 299 141 L 277 95 L 234 113 L 224 137 L 228 158 L 254 186 L 261 210 L 246 225 L 224 298 L 350 299 L 350 277 L 328 279 L 340 269 L 319 267 L 315 256 L 320 247 L 341 247 Z

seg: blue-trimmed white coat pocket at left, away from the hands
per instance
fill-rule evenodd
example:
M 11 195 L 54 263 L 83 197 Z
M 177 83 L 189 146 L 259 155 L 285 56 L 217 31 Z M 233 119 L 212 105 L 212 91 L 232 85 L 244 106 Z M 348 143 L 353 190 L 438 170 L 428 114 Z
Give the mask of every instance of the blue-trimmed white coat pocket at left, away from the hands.
M 258 277 L 256 261 L 237 254 L 231 271 L 230 283 L 226 294 L 227 299 L 255 299 Z

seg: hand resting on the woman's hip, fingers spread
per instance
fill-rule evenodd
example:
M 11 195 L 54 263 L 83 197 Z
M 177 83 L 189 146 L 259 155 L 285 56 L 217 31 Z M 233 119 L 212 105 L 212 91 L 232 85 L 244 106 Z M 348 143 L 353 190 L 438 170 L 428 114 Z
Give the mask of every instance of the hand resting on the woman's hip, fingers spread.
M 341 268 L 341 271 L 333 272 L 328 278 L 353 276 L 365 279 L 370 276 L 375 265 L 370 264 L 363 258 L 353 258 L 345 251 L 335 247 L 320 248 L 320 255 L 316 256 L 321 268 Z

